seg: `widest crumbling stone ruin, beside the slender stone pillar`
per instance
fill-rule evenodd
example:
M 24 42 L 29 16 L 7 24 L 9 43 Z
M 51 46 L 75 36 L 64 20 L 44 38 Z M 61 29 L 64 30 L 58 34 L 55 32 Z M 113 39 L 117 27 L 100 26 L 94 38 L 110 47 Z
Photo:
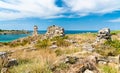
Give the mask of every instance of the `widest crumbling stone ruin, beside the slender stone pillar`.
M 64 28 L 53 25 L 53 26 L 49 26 L 47 29 L 47 32 L 45 34 L 46 38 L 53 38 L 56 36 L 64 36 Z

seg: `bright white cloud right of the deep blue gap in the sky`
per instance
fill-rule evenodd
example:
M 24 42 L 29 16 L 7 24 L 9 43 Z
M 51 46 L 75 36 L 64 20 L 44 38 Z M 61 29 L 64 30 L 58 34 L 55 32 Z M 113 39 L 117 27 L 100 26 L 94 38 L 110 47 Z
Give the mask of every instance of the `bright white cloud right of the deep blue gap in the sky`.
M 90 13 L 105 14 L 120 10 L 120 0 L 64 0 L 71 12 L 80 16 Z

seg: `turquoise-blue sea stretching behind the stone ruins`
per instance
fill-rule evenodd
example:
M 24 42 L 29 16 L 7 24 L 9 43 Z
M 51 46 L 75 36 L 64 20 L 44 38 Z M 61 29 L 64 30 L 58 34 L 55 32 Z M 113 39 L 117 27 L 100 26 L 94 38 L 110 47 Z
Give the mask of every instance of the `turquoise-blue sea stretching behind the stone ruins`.
M 23 38 L 26 36 L 32 35 L 32 31 L 30 31 L 30 34 L 7 34 L 7 35 L 0 35 L 0 42 L 11 42 L 13 40 Z M 65 31 L 65 34 L 81 34 L 81 33 L 96 33 L 97 31 L 75 31 L 75 30 L 67 30 Z M 46 31 L 38 31 L 39 34 L 45 34 Z

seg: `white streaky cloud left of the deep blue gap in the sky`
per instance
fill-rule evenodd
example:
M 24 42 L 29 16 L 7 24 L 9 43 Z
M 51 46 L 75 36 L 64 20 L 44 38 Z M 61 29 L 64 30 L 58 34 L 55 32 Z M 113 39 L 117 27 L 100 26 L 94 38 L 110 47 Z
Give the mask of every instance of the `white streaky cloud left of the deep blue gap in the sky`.
M 63 12 L 62 7 L 55 5 L 55 0 L 0 0 L 0 8 L 2 8 L 0 20 L 25 17 L 50 18 L 57 17 L 56 15 Z

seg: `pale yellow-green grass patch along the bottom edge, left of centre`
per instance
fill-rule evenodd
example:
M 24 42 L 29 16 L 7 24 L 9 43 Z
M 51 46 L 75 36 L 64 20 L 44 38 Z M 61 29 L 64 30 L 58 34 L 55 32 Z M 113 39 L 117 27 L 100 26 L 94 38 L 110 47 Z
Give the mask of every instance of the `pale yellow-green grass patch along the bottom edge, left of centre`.
M 21 64 L 9 71 L 10 73 L 52 73 L 48 65 L 41 66 L 40 63 Z

